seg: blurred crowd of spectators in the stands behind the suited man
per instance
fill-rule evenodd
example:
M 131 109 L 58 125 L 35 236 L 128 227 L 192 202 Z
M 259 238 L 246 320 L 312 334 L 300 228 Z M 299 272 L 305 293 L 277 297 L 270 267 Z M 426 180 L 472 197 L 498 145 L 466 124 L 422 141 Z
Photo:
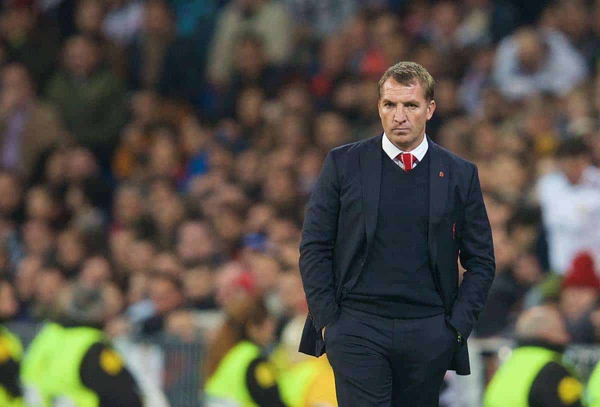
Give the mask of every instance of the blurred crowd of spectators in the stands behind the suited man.
M 536 304 L 559 307 L 585 379 L 600 1 L 4 0 L 2 321 L 26 345 L 65 286 L 100 287 L 138 380 L 202 405 L 228 304 L 265 300 L 267 348 L 306 315 L 304 205 L 329 149 L 382 131 L 377 81 L 402 60 L 436 79 L 427 135 L 478 165 L 496 250 L 474 373 L 443 403 L 481 403 Z

